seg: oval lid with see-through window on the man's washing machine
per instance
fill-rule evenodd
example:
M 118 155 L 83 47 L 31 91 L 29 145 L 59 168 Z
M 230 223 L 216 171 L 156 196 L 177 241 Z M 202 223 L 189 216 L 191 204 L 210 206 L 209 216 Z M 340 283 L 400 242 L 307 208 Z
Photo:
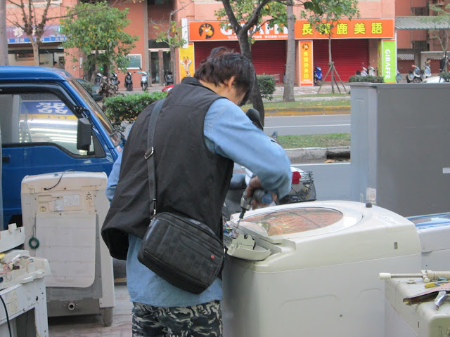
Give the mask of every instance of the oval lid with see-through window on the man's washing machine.
M 355 225 L 361 212 L 333 206 L 276 206 L 245 217 L 245 230 L 257 233 L 266 241 L 281 243 L 283 239 L 325 234 Z

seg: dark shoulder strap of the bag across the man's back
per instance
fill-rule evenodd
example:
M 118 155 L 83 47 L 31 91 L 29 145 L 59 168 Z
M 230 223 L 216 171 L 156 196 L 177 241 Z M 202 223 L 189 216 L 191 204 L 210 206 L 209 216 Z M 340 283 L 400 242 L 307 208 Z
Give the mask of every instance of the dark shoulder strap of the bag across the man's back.
M 153 136 L 155 135 L 156 119 L 158 119 L 158 115 L 160 114 L 160 110 L 164 102 L 165 98 L 163 98 L 162 100 L 158 100 L 158 102 L 153 107 L 152 114 L 150 115 L 150 121 L 148 122 L 148 133 L 147 133 L 148 150 L 143 156 L 147 161 L 148 193 L 150 194 L 150 216 L 154 216 L 156 213 L 155 157 L 153 157 L 155 149 L 153 148 Z

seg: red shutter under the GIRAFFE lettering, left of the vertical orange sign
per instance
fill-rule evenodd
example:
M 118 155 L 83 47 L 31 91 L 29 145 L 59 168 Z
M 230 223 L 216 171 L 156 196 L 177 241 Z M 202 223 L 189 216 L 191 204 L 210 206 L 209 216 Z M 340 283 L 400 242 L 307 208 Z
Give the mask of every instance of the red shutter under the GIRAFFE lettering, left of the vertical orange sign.
M 279 74 L 283 78 L 286 62 L 285 41 L 256 41 L 252 45 L 253 65 L 257 74 Z M 212 48 L 224 46 L 240 51 L 238 41 L 195 42 L 195 67 L 205 60 Z

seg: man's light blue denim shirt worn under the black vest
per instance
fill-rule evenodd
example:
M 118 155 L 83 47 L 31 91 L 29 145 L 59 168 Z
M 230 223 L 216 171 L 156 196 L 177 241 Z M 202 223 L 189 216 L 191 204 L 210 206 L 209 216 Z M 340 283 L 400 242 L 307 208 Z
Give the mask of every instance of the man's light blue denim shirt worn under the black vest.
M 291 184 L 290 161 L 283 147 L 271 142 L 240 109 L 227 99 L 212 103 L 205 117 L 205 143 L 212 152 L 242 164 L 259 177 L 264 190 L 278 197 L 288 194 Z M 108 178 L 106 194 L 112 200 L 119 179 L 122 154 Z M 222 300 L 221 280 L 200 294 L 172 286 L 139 263 L 137 254 L 142 240 L 129 235 L 127 287 L 131 301 L 156 307 L 189 307 Z

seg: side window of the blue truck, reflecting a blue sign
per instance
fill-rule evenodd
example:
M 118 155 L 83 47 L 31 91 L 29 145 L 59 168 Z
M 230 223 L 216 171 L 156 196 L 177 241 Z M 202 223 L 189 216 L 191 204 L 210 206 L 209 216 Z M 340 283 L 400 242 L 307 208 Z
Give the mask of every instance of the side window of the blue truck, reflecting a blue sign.
M 77 150 L 77 117 L 50 92 L 0 95 L 0 126 L 2 145 L 55 143 L 72 154 L 88 154 Z

